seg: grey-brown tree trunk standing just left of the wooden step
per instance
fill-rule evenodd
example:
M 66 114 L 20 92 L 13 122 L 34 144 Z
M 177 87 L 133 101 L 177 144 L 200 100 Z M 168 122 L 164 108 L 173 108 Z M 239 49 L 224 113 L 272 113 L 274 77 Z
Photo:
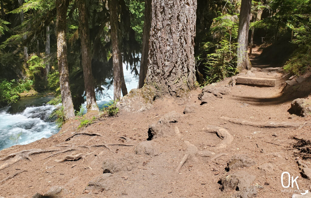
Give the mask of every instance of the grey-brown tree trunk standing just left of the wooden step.
M 237 69 L 239 71 L 242 71 L 243 69 L 250 69 L 252 67 L 247 53 L 247 43 L 248 43 L 247 41 L 248 41 L 251 6 L 252 0 L 242 0 L 239 17 L 239 32 L 238 32 L 239 47 L 237 49 L 238 55 Z

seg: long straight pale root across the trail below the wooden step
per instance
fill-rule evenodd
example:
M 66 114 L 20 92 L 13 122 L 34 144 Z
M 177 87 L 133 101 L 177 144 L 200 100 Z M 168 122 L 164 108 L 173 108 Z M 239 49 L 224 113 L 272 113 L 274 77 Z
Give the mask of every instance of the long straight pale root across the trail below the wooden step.
M 310 125 L 310 123 L 288 123 L 288 122 L 273 122 L 273 121 L 268 121 L 264 123 L 256 123 L 256 122 L 251 122 L 251 121 L 244 120 L 244 119 L 227 118 L 227 117 L 221 117 L 220 119 L 225 119 L 231 123 L 250 125 L 253 127 L 293 127 L 293 128 L 299 127 L 300 129 L 300 127 L 302 128 L 305 125 Z

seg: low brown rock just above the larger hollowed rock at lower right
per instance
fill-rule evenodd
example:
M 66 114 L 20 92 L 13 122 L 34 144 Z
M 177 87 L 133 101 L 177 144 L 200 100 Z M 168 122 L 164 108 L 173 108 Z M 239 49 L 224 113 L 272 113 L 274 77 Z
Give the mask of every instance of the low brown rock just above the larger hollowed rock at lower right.
M 233 170 L 242 167 L 250 167 L 256 164 L 256 161 L 249 158 L 247 155 L 234 155 L 230 161 L 227 163 L 226 170 Z

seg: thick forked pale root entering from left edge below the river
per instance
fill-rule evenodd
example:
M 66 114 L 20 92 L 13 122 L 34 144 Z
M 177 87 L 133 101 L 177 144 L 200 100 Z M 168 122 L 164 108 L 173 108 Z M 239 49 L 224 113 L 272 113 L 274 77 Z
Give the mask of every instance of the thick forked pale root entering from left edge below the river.
M 17 153 L 9 154 L 6 157 L 3 157 L 2 159 L 0 159 L 1 161 L 7 160 L 0 166 L 0 170 L 5 169 L 23 159 L 29 159 L 30 161 L 32 161 L 32 159 L 29 157 L 30 155 L 38 154 L 38 153 L 48 153 L 48 152 L 53 152 L 53 151 L 59 151 L 59 149 L 50 149 L 50 150 L 30 149 L 30 150 L 22 150 Z

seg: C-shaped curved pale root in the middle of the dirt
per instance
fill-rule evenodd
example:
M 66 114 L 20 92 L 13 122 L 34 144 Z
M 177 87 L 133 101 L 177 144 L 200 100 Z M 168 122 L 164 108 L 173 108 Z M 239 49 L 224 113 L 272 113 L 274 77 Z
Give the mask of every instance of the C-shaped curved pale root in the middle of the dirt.
M 225 130 L 224 128 L 217 127 L 214 125 L 208 125 L 203 130 L 205 130 L 206 132 L 209 132 L 209 133 L 216 133 L 216 135 L 220 139 L 222 139 L 222 141 L 218 145 L 213 147 L 214 150 L 223 149 L 227 145 L 231 144 L 231 142 L 233 141 L 233 137 L 231 136 L 231 134 L 227 130 Z

